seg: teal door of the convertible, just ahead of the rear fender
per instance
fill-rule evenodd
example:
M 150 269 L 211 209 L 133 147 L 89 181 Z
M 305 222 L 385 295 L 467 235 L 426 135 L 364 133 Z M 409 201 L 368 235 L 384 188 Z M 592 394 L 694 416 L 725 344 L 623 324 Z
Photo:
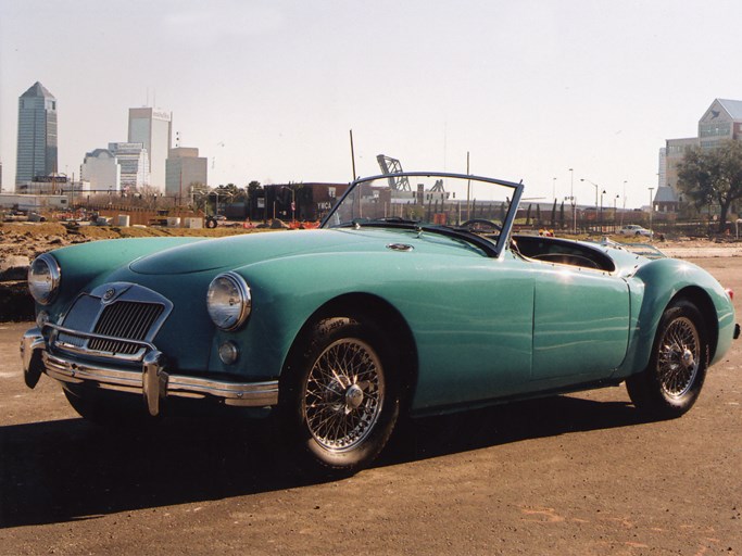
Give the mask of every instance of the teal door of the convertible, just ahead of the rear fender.
M 609 376 L 628 346 L 626 281 L 576 266 L 535 265 L 531 379 L 558 386 Z

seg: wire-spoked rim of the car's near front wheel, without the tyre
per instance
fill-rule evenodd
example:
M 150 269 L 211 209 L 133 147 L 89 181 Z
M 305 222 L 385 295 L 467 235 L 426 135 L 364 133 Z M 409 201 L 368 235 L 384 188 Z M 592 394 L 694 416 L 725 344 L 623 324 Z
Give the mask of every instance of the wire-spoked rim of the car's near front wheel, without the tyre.
M 334 342 L 306 381 L 303 414 L 312 437 L 332 452 L 357 446 L 379 418 L 383 393 L 383 370 L 374 349 L 352 338 Z

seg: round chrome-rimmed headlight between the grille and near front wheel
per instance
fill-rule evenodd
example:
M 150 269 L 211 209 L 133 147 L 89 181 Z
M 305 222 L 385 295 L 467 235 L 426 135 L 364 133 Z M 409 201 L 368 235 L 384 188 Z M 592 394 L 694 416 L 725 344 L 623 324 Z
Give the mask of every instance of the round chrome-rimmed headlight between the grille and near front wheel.
M 244 279 L 235 273 L 218 275 L 209 285 L 209 316 L 222 330 L 235 330 L 250 315 L 252 298 Z

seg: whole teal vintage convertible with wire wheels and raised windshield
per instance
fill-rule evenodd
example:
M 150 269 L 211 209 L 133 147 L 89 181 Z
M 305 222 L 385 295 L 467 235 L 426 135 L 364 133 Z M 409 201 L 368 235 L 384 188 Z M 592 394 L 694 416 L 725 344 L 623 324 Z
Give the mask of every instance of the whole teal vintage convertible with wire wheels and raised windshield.
M 304 466 L 352 472 L 401 414 L 626 382 L 687 412 L 739 336 L 706 271 L 513 233 L 523 185 L 400 173 L 354 181 L 320 229 L 99 241 L 36 258 L 30 388 L 101 425 L 173 397 L 268 416 Z M 169 404 L 172 405 L 172 404 Z

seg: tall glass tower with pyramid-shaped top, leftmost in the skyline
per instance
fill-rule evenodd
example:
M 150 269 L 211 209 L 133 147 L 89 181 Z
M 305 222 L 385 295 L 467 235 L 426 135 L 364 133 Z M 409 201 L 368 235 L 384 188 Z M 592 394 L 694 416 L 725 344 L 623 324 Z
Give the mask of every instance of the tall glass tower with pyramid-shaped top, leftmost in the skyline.
M 36 81 L 18 98 L 15 184 L 56 172 L 56 99 Z

